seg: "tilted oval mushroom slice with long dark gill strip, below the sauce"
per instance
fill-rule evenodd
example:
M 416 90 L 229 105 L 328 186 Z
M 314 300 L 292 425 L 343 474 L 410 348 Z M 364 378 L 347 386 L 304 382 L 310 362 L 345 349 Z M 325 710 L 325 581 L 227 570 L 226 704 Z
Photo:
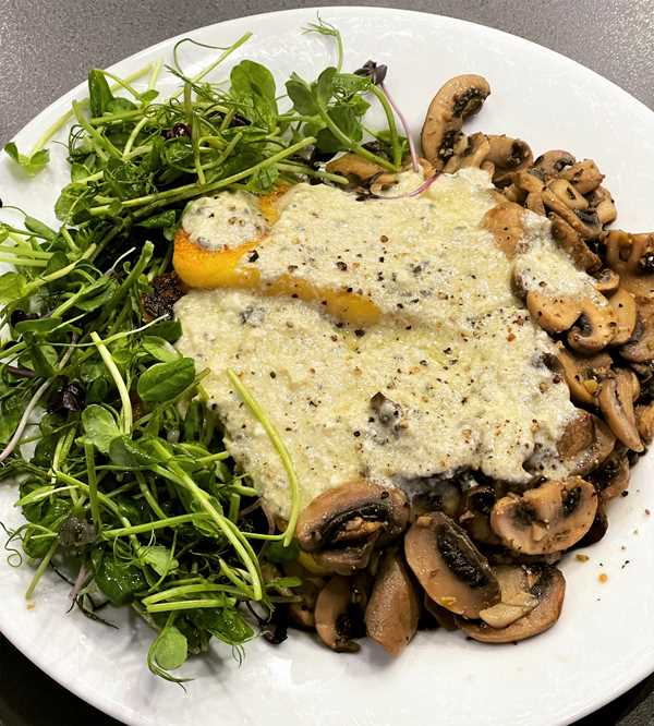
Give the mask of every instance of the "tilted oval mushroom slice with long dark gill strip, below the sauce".
M 404 552 L 421 585 L 441 607 L 476 618 L 481 609 L 499 601 L 488 561 L 446 515 L 419 517 L 404 536 Z

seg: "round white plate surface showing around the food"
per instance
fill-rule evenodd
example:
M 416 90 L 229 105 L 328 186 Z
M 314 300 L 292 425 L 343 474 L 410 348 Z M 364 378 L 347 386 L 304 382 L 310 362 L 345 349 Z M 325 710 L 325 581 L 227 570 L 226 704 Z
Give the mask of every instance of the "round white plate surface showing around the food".
M 445 80 L 482 73 L 493 95 L 474 128 L 523 137 L 536 153 L 566 148 L 594 158 L 616 197 L 620 223 L 634 231 L 654 227 L 654 114 L 617 86 L 521 38 L 457 20 L 375 8 L 327 8 L 322 15 L 343 34 L 348 69 L 368 58 L 389 65 L 387 84 L 416 131 Z M 312 20 L 315 10 L 294 10 L 187 35 L 226 46 L 253 31 L 255 37 L 233 61 L 250 57 L 280 80 L 293 70 L 311 78 L 334 58 L 325 39 L 301 34 Z M 125 75 L 158 58 L 170 61 L 173 43 L 144 50 L 112 70 Z M 196 49 L 191 56 L 199 70 L 211 53 Z M 19 146 L 28 147 L 83 94 L 80 86 L 40 113 L 19 134 Z M 63 153 L 53 148 L 51 169 L 29 183 L 0 160 L 5 204 L 52 217 L 57 190 L 66 181 Z M 645 513 L 646 508 L 654 511 L 654 491 L 647 487 L 653 472 L 654 458 L 647 456 L 635 469 L 629 496 L 610 507 L 609 533 L 588 549 L 590 561 L 566 559 L 568 593 L 558 625 L 518 646 L 484 646 L 438 631 L 421 633 L 393 662 L 371 643 L 361 655 L 337 655 L 293 633 L 281 648 L 250 644 L 241 667 L 227 648 L 193 661 L 184 670 L 196 680 L 184 693 L 148 673 L 152 632 L 142 622 L 126 613 L 112 614 L 121 624 L 114 631 L 77 612 L 65 615 L 68 586 L 55 576 L 45 579 L 36 607 L 28 610 L 23 593 L 31 571 L 12 569 L 4 557 L 0 628 L 71 691 L 138 726 L 568 724 L 654 670 L 654 529 Z M 21 522 L 14 500 L 12 487 L 2 487 L 0 518 L 8 527 Z M 597 580 L 601 572 L 608 576 L 605 584 Z

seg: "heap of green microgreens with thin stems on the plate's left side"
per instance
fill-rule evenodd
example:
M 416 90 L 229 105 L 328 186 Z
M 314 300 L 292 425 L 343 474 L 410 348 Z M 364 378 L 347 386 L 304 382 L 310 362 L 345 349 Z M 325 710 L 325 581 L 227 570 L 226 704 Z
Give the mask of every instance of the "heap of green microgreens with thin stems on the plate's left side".
M 337 28 L 318 20 L 305 29 L 335 41 L 337 64 L 312 81 L 291 74 L 288 98 L 251 60 L 234 63 L 227 82 L 209 80 L 250 34 L 192 75 L 182 45 L 207 46 L 182 40 L 168 69 L 179 78 L 170 98 L 157 90 L 160 62 L 128 77 L 93 69 L 87 97 L 28 154 L 15 143 L 4 149 L 37 173 L 49 141 L 70 126 L 60 227 L 25 214 L 20 226 L 0 222 L 0 262 L 12 266 L 0 275 L 0 481 L 21 482 L 26 523 L 11 537 L 36 566 L 26 595 L 36 596 L 50 566 L 74 568 L 72 602 L 99 624 L 98 593 L 131 606 L 158 633 L 150 670 L 174 682 L 183 678 L 170 671 L 211 638 L 239 649 L 256 634 L 245 605 L 271 612 L 283 600 L 280 583 L 298 584 L 266 583 L 262 561 L 296 558 L 300 507 L 282 436 L 256 391 L 225 372 L 288 476 L 288 527 L 262 531 L 258 493 L 226 450 L 203 394 L 207 372 L 174 348 L 182 331 L 170 308 L 150 315 L 144 304 L 172 269 L 184 205 L 223 189 L 347 184 L 313 160 L 316 152 L 351 152 L 389 171 L 402 161 L 405 141 L 387 94 L 370 74 L 343 71 Z M 143 76 L 146 87 L 136 87 Z M 364 120 L 375 100 L 387 128 L 371 146 Z

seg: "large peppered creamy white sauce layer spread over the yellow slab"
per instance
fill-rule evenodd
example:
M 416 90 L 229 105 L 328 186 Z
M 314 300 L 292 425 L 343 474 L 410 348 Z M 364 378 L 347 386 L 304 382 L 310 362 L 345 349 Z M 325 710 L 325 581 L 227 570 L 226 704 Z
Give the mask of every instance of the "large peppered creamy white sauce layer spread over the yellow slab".
M 492 206 L 479 170 L 444 176 L 419 198 L 356 202 L 306 184 L 281 197 L 253 266 L 263 280 L 292 274 L 368 297 L 384 316 L 366 330 L 337 324 L 319 304 L 256 292 L 193 291 L 177 304 L 179 348 L 211 372 L 205 386 L 227 446 L 281 516 L 286 473 L 228 367 L 283 437 L 303 504 L 358 476 L 401 485 L 463 468 L 510 481 L 529 480 L 525 465 L 567 473 L 556 445 L 574 408 L 543 364 L 554 344 L 511 293 L 517 259 L 481 227 Z M 518 261 L 537 270 L 535 283 L 568 283 L 578 271 L 548 223 L 535 227 Z M 388 424 L 371 403 L 376 394 L 398 412 Z

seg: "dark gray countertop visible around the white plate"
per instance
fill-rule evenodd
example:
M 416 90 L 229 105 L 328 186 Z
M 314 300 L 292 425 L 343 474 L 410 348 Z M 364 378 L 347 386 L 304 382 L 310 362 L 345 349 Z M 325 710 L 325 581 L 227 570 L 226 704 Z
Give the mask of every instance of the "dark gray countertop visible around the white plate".
M 316 4 L 311 0 L 0 0 L 0 145 L 83 81 L 90 66 L 110 65 L 202 25 Z M 434 12 L 520 35 L 588 65 L 654 108 L 652 0 L 360 0 L 356 4 Z M 56 723 L 117 726 L 43 675 L 0 636 L 0 726 Z M 600 724 L 654 724 L 654 676 L 579 722 L 579 726 Z

